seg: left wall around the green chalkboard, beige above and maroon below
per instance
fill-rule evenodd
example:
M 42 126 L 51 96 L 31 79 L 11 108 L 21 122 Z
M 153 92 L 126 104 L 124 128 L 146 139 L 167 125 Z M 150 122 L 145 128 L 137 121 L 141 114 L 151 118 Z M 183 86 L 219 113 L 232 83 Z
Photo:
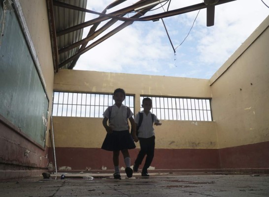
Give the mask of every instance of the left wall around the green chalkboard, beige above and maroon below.
M 50 100 L 48 114 L 50 117 L 54 67 L 46 0 L 13 0 L 13 2 L 15 5 L 14 12 L 18 15 L 26 39 L 29 40 L 29 48 L 35 53 L 32 53 L 34 62 L 37 65 Z M 16 80 L 16 76 L 14 76 L 14 80 Z M 48 118 L 46 144 L 45 147 L 41 147 L 8 121 L 0 121 L 0 139 L 2 140 L 0 179 L 40 175 L 40 173 L 47 170 L 49 124 L 50 120 Z M 28 154 L 25 154 L 26 150 L 29 151 Z

